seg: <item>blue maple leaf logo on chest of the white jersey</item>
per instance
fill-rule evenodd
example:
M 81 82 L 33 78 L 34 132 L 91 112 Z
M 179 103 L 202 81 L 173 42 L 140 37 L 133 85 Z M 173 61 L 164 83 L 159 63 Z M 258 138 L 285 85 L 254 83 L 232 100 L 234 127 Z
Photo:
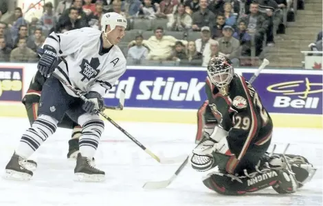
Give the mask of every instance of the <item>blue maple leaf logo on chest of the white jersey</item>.
M 80 64 L 81 71 L 80 73 L 83 75 L 81 81 L 85 79 L 90 80 L 92 78 L 96 78 L 99 74 L 99 70 L 97 69 L 100 66 L 99 58 L 92 58 L 91 62 L 83 59 Z

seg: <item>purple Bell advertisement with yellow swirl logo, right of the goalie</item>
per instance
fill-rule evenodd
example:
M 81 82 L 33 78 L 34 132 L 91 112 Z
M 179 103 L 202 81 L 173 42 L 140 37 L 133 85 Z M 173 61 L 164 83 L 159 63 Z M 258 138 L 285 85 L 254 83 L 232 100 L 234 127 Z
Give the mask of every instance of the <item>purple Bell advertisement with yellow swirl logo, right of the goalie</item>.
M 250 73 L 243 73 L 246 79 Z M 269 112 L 322 114 L 322 75 L 269 74 L 253 83 Z

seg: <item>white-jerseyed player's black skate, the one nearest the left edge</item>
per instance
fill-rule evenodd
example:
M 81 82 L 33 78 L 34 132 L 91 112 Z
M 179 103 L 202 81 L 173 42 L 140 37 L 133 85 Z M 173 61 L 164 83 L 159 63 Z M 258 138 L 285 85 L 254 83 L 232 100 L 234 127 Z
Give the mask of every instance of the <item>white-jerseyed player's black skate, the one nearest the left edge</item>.
M 19 155 L 12 155 L 10 162 L 5 166 L 5 178 L 15 180 L 30 180 L 33 172 L 25 166 L 27 160 Z

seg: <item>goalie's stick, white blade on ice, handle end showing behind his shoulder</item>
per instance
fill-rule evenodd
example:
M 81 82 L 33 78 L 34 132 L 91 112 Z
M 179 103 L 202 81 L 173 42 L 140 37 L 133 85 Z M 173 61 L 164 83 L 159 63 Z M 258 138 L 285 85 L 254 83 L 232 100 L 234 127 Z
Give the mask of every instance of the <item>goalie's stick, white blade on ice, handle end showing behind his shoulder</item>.
M 254 75 L 252 75 L 252 77 L 250 78 L 249 83 L 254 82 L 254 80 L 260 74 L 261 70 L 263 70 L 268 64 L 269 64 L 269 61 L 267 59 L 264 59 L 263 63 L 259 66 L 256 73 L 254 73 Z M 197 146 L 199 146 L 199 145 L 197 145 Z M 148 181 L 148 182 L 146 182 L 144 184 L 143 188 L 148 189 L 148 190 L 156 190 L 156 189 L 166 188 L 168 185 L 170 185 L 170 183 L 172 183 L 172 181 L 174 181 L 176 179 L 176 177 L 183 170 L 183 168 L 185 168 L 185 166 L 188 164 L 188 159 L 189 158 L 190 158 L 190 155 L 188 155 L 186 157 L 185 161 L 181 164 L 181 166 L 179 166 L 179 168 L 176 170 L 174 175 L 172 175 L 172 177 L 170 177 L 170 179 L 167 179 L 167 180 L 164 180 L 164 181 Z

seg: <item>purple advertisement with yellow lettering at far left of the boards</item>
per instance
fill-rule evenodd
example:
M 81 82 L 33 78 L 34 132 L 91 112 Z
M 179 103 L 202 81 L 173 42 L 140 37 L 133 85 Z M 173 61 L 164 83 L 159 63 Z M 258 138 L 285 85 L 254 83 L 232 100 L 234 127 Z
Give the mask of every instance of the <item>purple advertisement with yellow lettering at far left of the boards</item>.
M 23 67 L 0 66 L 0 101 L 23 99 Z

